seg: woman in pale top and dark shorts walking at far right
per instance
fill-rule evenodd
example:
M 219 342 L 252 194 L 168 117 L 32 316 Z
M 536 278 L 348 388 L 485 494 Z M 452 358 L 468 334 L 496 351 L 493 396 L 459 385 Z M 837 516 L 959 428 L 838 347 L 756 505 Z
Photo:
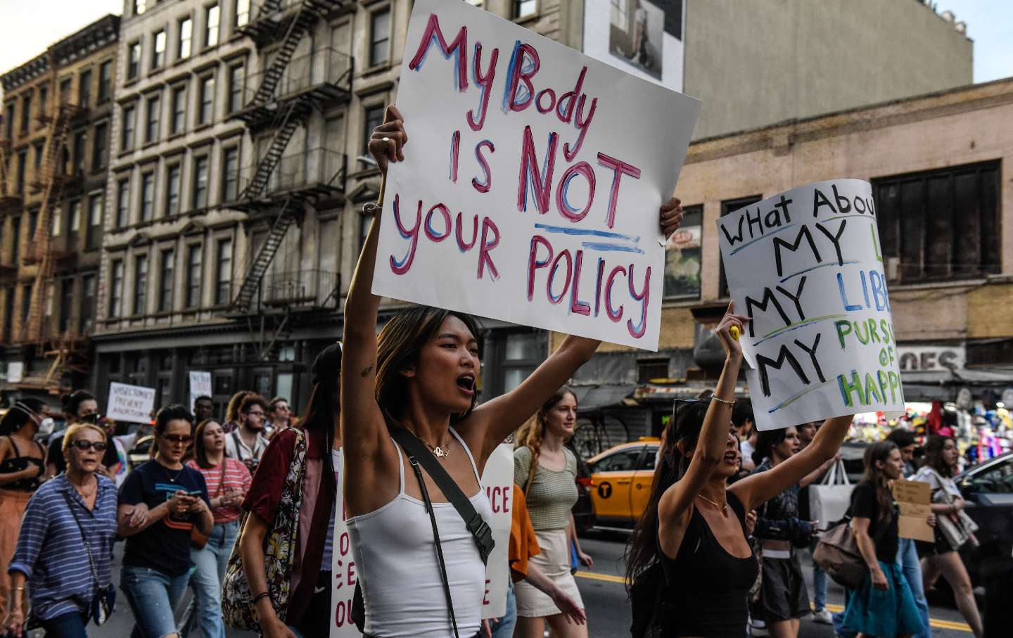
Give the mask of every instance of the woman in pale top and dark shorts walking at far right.
M 964 500 L 953 481 L 960 453 L 956 442 L 949 436 L 933 434 L 925 444 L 925 465 L 912 480 L 928 483 L 932 488 L 932 511 L 938 516 L 935 543 L 916 541 L 922 556 L 922 576 L 928 591 L 941 575 L 953 588 L 960 615 L 970 625 L 976 638 L 985 633 L 982 615 L 978 611 L 975 591 L 967 568 L 957 550 L 973 542 L 973 531 L 968 529 L 969 517 L 963 513 Z

